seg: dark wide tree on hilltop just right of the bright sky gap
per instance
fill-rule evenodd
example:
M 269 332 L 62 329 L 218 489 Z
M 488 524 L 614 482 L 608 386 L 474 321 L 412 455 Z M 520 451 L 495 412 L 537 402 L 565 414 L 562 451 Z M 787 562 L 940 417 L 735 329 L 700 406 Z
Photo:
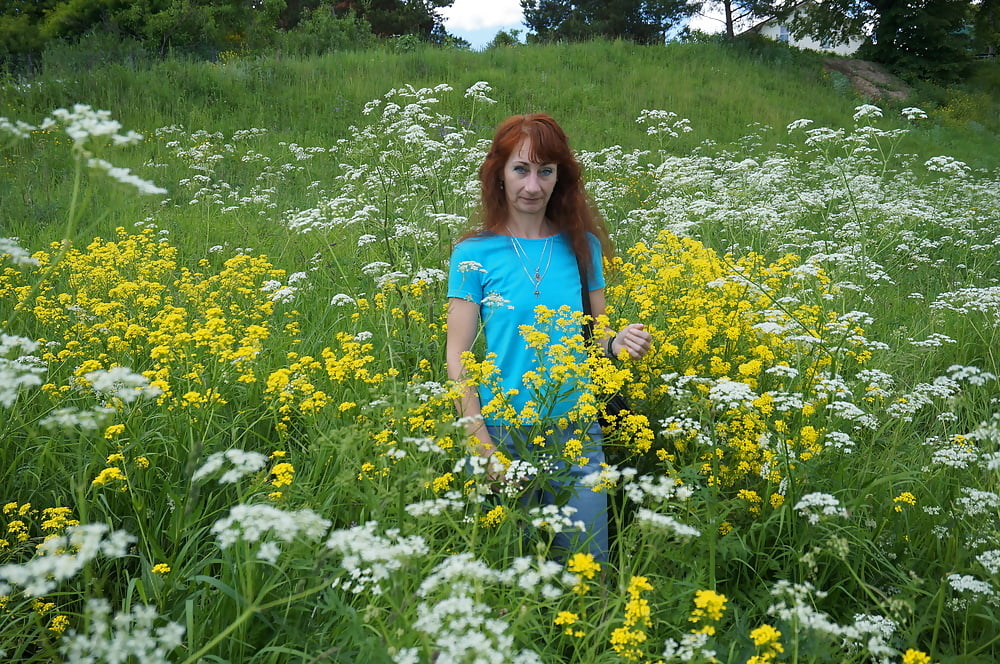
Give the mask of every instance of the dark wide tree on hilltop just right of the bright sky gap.
M 580 41 L 592 37 L 663 43 L 690 15 L 686 0 L 521 0 L 532 41 Z

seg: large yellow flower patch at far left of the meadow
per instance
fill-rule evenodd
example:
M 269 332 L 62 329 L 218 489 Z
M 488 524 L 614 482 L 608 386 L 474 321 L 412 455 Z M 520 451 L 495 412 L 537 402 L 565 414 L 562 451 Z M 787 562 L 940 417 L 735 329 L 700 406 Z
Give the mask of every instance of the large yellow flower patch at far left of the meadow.
M 215 386 L 256 380 L 253 360 L 272 334 L 275 308 L 262 285 L 284 276 L 266 258 L 238 255 L 218 273 L 192 271 L 150 228 L 119 228 L 115 240 L 82 249 L 56 244 L 34 258 L 37 273 L 6 271 L 0 288 L 44 321 L 50 339 L 43 359 L 75 363 L 77 385 L 86 387 L 84 374 L 123 355 L 170 407 L 221 404 Z

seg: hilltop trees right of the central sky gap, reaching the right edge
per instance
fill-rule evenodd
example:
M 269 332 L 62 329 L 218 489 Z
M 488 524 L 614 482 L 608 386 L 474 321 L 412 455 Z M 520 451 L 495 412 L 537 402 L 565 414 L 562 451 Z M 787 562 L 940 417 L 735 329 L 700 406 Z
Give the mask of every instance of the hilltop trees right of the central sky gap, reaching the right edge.
M 860 56 L 918 78 L 949 79 L 1000 44 L 1000 0 L 521 0 L 529 41 L 624 38 L 662 43 L 696 14 L 729 39 L 765 19 L 825 43 L 866 37 Z

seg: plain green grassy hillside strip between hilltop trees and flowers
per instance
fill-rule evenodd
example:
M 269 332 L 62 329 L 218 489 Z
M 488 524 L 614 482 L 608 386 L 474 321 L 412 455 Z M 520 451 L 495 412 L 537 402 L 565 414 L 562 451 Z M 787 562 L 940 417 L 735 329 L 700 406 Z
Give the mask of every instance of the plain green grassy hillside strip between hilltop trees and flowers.
M 984 71 L 991 67 L 995 63 Z M 499 101 L 476 118 L 481 128 L 512 113 L 546 111 L 580 148 L 648 147 L 634 124 L 642 109 L 669 110 L 691 120 L 695 131 L 674 147 L 682 152 L 705 139 L 731 143 L 753 124 L 780 129 L 803 117 L 849 124 L 860 102 L 846 81 L 823 71 L 820 56 L 779 44 L 594 42 L 482 53 L 383 48 L 308 59 L 224 53 L 219 62 L 167 61 L 140 71 L 116 64 L 80 71 L 64 58 L 24 94 L 5 86 L 0 113 L 31 117 L 88 103 L 134 127 L 264 127 L 300 141 L 330 141 L 357 121 L 362 104 L 390 88 L 449 83 L 464 89 L 481 80 L 493 85 Z M 989 76 L 977 80 L 990 85 Z M 1000 86 L 992 92 L 986 87 L 978 96 L 956 95 L 923 91 L 905 103 L 944 106 L 933 137 L 937 148 L 950 148 L 952 156 L 973 163 L 993 163 L 1000 151 L 991 149 L 1000 145 L 995 135 Z M 968 119 L 989 126 L 969 136 L 968 127 L 960 126 Z M 913 149 L 928 143 L 918 135 Z

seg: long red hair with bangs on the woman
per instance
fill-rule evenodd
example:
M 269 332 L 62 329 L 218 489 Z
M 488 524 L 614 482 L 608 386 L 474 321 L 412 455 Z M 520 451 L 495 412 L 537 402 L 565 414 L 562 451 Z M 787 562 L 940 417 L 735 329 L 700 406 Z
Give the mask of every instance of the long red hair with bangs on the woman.
M 528 141 L 533 161 L 556 165 L 556 184 L 545 216 L 559 231 L 569 235 L 573 252 L 584 270 L 589 270 L 591 265 L 587 233 L 597 236 L 605 256 L 612 256 L 604 219 L 587 196 L 582 169 L 570 150 L 569 139 L 556 121 L 544 113 L 513 115 L 497 127 L 490 151 L 479 167 L 480 228 L 469 235 L 481 231 L 497 232 L 507 223 L 507 196 L 501 188 L 503 169 L 523 140 Z

